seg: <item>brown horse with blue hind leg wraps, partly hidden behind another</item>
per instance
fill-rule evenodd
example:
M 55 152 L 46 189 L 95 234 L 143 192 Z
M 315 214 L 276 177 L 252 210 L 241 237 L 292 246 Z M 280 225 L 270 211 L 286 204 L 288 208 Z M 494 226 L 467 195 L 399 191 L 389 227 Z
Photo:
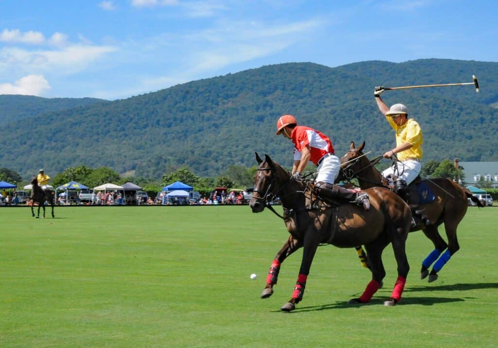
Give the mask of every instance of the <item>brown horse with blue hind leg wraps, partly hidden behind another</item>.
M 375 169 L 374 163 L 364 155 L 364 148 L 365 142 L 358 148 L 355 148 L 355 143 L 351 142 L 350 150 L 341 158 L 343 165 L 336 181 L 351 181 L 351 179 L 356 178 L 362 189 L 390 187 L 387 179 Z M 424 279 L 428 275 L 428 281 L 433 282 L 438 278 L 438 272 L 446 262 L 460 249 L 457 227 L 467 212 L 469 205 L 467 198 L 476 202 L 478 206 L 483 205 L 467 188 L 460 187 L 453 180 L 439 177 L 421 182 L 432 190 L 435 199 L 415 208 L 426 218 L 426 221 L 417 221 L 410 232 L 422 230 L 434 244 L 434 250 L 422 261 L 420 269 L 420 279 Z M 438 232 L 438 226 L 443 223 L 448 243 Z M 432 270 L 429 273 L 431 265 Z

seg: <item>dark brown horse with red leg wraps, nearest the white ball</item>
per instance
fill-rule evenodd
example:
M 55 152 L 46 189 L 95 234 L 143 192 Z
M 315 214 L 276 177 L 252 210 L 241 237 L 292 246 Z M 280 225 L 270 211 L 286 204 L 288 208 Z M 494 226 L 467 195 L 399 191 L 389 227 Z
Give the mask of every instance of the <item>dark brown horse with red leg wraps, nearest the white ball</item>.
M 339 248 L 365 245 L 370 257 L 372 280 L 362 296 L 348 303 L 367 303 L 385 276 L 381 255 L 391 243 L 398 278 L 391 297 L 384 305 L 392 306 L 399 302 L 410 268 L 405 242 L 412 217 L 408 205 L 398 195 L 386 188 L 374 187 L 365 190 L 370 196 L 368 211 L 353 204 L 333 208 L 314 199 L 312 187 L 308 187 L 310 185 L 295 179 L 268 155 L 263 161 L 256 153 L 256 161 L 258 167 L 254 174 L 254 189 L 249 206 L 253 213 L 259 213 L 265 207 L 274 211 L 269 202 L 276 196 L 280 197 L 284 211 L 280 217 L 290 233 L 271 264 L 261 298 L 273 294 L 281 263 L 299 248 L 303 248 L 303 256 L 297 283 L 291 299 L 280 308 L 286 312 L 294 310 L 295 304 L 302 300 L 311 263 L 320 244 L 332 244 Z M 334 210 L 337 210 L 336 214 Z

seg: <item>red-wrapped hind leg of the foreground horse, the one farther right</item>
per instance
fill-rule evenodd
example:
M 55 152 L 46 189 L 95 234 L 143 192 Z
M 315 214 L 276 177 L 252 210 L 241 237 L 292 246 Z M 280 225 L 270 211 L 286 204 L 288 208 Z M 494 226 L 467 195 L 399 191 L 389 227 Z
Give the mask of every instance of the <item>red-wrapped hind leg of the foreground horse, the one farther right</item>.
M 392 236 L 392 250 L 394 251 L 394 257 L 396 258 L 398 278 L 394 284 L 394 289 L 392 290 L 391 298 L 384 302 L 384 306 L 394 306 L 401 300 L 401 294 L 403 293 L 404 285 L 406 283 L 406 277 L 408 276 L 408 271 L 410 270 L 410 265 L 408 264 L 408 259 L 406 258 L 406 237 L 408 237 L 409 227 L 403 231 L 402 228 L 398 228 L 397 233 L 395 232 Z

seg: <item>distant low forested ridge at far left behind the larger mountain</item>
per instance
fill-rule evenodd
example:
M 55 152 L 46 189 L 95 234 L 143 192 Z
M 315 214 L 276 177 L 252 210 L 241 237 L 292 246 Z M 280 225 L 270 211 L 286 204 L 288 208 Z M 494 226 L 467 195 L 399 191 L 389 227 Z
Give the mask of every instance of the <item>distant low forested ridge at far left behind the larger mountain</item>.
M 72 109 L 95 103 L 109 102 L 97 98 L 41 98 L 33 95 L 0 95 L 0 125 L 37 116 L 44 112 Z

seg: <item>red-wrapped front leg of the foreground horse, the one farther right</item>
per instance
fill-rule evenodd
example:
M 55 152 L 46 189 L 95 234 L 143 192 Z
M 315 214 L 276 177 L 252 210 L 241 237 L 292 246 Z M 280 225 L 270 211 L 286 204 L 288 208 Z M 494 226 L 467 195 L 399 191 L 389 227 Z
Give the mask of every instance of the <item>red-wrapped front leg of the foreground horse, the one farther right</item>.
M 304 288 L 306 287 L 306 280 L 308 278 L 308 274 L 311 268 L 311 262 L 313 262 L 313 258 L 315 257 L 316 249 L 318 248 L 319 241 L 315 241 L 316 235 L 318 233 L 315 232 L 315 236 L 310 236 L 313 234 L 312 231 L 307 231 L 305 234 L 305 242 L 303 249 L 303 258 L 301 260 L 301 267 L 299 268 L 299 275 L 297 276 L 296 286 L 294 287 L 294 292 L 292 292 L 291 299 L 284 304 L 280 309 L 284 312 L 290 312 L 296 308 L 296 303 L 301 302 L 303 299 Z

